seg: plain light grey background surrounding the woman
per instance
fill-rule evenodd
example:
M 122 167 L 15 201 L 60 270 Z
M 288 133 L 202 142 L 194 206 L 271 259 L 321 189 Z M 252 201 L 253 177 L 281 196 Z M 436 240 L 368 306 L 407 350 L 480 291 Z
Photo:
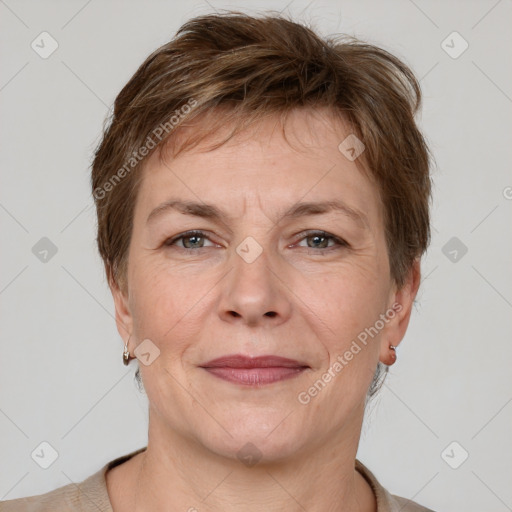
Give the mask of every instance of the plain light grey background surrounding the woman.
M 0 1 L 0 499 L 81 481 L 146 444 L 89 189 L 115 95 L 188 18 L 286 5 Z M 358 458 L 437 511 L 512 510 L 512 2 L 295 0 L 287 12 L 403 58 L 421 78 L 437 161 L 418 304 Z M 47 59 L 31 48 L 43 31 L 58 43 Z M 469 44 L 457 58 L 454 31 Z M 57 248 L 46 262 L 32 251 L 42 237 Z M 42 442 L 58 452 L 48 469 L 31 457 Z

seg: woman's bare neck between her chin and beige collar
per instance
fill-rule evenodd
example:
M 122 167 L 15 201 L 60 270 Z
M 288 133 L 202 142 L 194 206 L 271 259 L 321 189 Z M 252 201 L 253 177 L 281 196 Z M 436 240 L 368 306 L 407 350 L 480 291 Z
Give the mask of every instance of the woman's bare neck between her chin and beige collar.
M 118 486 L 123 503 L 116 507 L 112 500 L 115 512 L 168 512 L 169 504 L 189 512 L 376 511 L 373 491 L 355 470 L 358 434 L 340 432 L 329 446 L 304 450 L 293 460 L 245 466 L 176 432 L 163 435 L 152 419 L 147 449 L 134 457 Z

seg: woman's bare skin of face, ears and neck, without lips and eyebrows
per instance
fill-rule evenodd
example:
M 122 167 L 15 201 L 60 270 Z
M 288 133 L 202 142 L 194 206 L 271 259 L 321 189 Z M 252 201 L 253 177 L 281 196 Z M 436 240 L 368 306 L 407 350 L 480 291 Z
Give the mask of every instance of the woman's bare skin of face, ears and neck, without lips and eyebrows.
M 378 361 L 395 360 L 389 346 L 406 332 L 419 262 L 398 290 L 378 189 L 338 150 L 347 126 L 327 111 L 296 110 L 286 124 L 290 145 L 276 122 L 262 121 L 210 152 L 203 143 L 172 161 L 153 155 L 146 163 L 127 289 L 113 285 L 112 293 L 131 355 L 144 339 L 160 354 L 139 363 L 147 450 L 107 473 L 115 512 L 376 510 L 354 461 L 368 387 Z M 170 198 L 213 204 L 230 217 L 218 223 L 169 210 L 146 223 Z M 299 201 L 327 200 L 342 200 L 366 221 L 338 211 L 282 218 Z M 205 236 L 165 245 L 192 229 Z M 315 238 L 318 230 L 349 245 Z M 252 263 L 236 252 L 248 236 L 262 249 Z M 400 312 L 301 404 L 299 393 L 394 303 Z M 235 353 L 279 355 L 310 368 L 248 387 L 199 367 Z M 261 454 L 251 467 L 237 458 L 249 442 Z

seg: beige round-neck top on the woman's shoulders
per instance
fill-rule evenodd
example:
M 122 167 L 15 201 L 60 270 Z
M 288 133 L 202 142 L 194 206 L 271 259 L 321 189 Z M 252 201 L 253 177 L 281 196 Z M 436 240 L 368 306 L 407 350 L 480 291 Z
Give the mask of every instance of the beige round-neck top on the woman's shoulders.
M 145 449 L 140 448 L 108 462 L 79 484 L 68 484 L 37 496 L 1 501 L 0 512 L 113 512 L 105 473 Z M 377 501 L 377 512 L 434 512 L 411 500 L 390 494 L 357 459 L 355 468 L 370 484 Z

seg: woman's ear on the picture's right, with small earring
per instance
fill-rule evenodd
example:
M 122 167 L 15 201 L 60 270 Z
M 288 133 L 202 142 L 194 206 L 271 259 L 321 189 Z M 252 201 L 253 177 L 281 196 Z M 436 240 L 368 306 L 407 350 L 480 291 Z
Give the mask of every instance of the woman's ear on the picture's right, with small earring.
M 379 357 L 379 360 L 386 365 L 391 365 L 396 360 L 394 350 L 389 347 L 390 345 L 397 347 L 405 336 L 420 280 L 420 260 L 416 259 L 404 285 L 400 289 L 394 285 L 390 294 L 388 312 L 393 310 L 395 314 L 392 316 L 392 314 L 386 313 L 389 320 L 381 336 Z

